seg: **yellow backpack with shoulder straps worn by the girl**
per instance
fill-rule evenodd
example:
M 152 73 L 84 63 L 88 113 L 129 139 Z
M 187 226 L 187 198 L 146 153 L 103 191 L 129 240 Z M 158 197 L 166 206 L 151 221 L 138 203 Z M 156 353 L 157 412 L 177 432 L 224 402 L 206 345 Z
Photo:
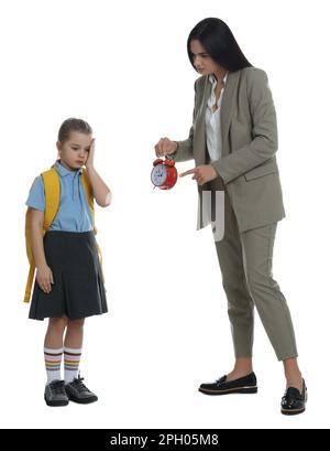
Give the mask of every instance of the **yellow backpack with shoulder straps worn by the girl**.
M 41 175 L 43 178 L 44 187 L 45 187 L 45 214 L 44 214 L 44 225 L 43 225 L 43 235 L 45 235 L 45 233 L 51 227 L 51 224 L 53 223 L 57 214 L 57 211 L 58 211 L 59 198 L 61 198 L 61 185 L 59 185 L 59 178 L 58 178 L 57 171 L 54 167 L 52 167 L 48 171 L 43 172 Z M 86 192 L 87 202 L 89 205 L 90 215 L 91 215 L 92 225 L 94 225 L 94 233 L 96 235 L 97 229 L 95 227 L 94 197 L 92 197 L 91 185 L 90 185 L 86 169 L 82 169 L 81 183 Z M 30 191 L 32 190 L 32 186 Z M 34 280 L 34 275 L 35 275 L 35 262 L 34 262 L 32 246 L 31 246 L 31 211 L 32 208 L 28 207 L 26 215 L 25 215 L 25 245 L 26 245 L 26 255 L 28 255 L 28 259 L 30 262 L 30 270 L 29 270 L 28 282 L 26 282 L 26 288 L 25 288 L 24 302 L 30 302 L 31 290 L 32 290 L 32 284 Z M 98 244 L 97 244 L 97 249 L 99 254 L 100 265 L 102 267 L 102 255 L 101 255 L 101 250 Z M 102 275 L 102 278 L 103 278 L 103 275 Z M 105 281 L 105 278 L 103 278 L 103 281 Z

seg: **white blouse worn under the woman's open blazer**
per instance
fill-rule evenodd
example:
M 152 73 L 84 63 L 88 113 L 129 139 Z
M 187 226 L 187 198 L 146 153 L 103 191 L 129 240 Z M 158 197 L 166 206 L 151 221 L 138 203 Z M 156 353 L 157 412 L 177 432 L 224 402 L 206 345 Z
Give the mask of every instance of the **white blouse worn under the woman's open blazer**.
M 211 95 L 209 97 L 207 109 L 206 109 L 206 139 L 207 148 L 211 162 L 219 160 L 221 158 L 221 122 L 220 122 L 220 110 L 221 101 L 226 87 L 227 80 L 226 74 L 223 78 L 224 86 L 221 89 L 219 99 L 217 101 L 217 110 L 212 111 L 212 106 L 216 104 L 216 94 L 215 89 L 217 86 L 217 78 L 213 75 L 209 75 L 209 82 L 212 84 Z

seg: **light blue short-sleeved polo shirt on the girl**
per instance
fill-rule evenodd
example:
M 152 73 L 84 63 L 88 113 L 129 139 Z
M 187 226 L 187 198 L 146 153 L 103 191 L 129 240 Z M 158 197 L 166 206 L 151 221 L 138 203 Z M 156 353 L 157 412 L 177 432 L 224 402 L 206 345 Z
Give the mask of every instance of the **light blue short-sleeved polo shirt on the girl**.
M 69 171 L 61 164 L 59 160 L 56 161 L 55 169 L 59 175 L 61 198 L 57 214 L 50 230 L 92 230 L 90 210 L 80 180 L 82 169 Z M 35 179 L 25 204 L 41 212 L 45 211 L 45 187 L 42 175 Z

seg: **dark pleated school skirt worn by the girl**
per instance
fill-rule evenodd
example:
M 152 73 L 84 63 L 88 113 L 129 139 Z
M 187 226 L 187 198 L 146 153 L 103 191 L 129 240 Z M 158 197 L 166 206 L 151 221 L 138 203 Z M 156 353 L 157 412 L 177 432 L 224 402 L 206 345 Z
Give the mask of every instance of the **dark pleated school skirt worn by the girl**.
M 54 284 L 45 293 L 34 281 L 29 318 L 79 320 L 108 312 L 106 289 L 92 232 L 48 230 L 44 249 Z

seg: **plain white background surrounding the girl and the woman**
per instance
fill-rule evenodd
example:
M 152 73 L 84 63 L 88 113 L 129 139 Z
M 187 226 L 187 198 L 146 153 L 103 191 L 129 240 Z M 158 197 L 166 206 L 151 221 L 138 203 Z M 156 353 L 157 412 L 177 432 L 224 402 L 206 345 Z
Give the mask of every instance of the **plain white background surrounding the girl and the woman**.
M 10 428 L 323 428 L 329 426 L 329 23 L 327 1 L 1 1 L 1 425 Z M 186 40 L 206 17 L 231 28 L 266 71 L 277 111 L 287 217 L 274 278 L 289 303 L 307 411 L 283 417 L 282 364 L 260 321 L 254 396 L 207 397 L 231 369 L 227 301 L 209 228 L 196 232 L 189 178 L 152 190 L 153 147 L 185 139 L 194 80 Z M 28 320 L 25 200 L 56 158 L 59 125 L 95 130 L 113 192 L 97 210 L 110 312 L 86 323 L 90 406 L 45 406 L 46 322 Z M 179 171 L 194 167 L 177 164 Z

